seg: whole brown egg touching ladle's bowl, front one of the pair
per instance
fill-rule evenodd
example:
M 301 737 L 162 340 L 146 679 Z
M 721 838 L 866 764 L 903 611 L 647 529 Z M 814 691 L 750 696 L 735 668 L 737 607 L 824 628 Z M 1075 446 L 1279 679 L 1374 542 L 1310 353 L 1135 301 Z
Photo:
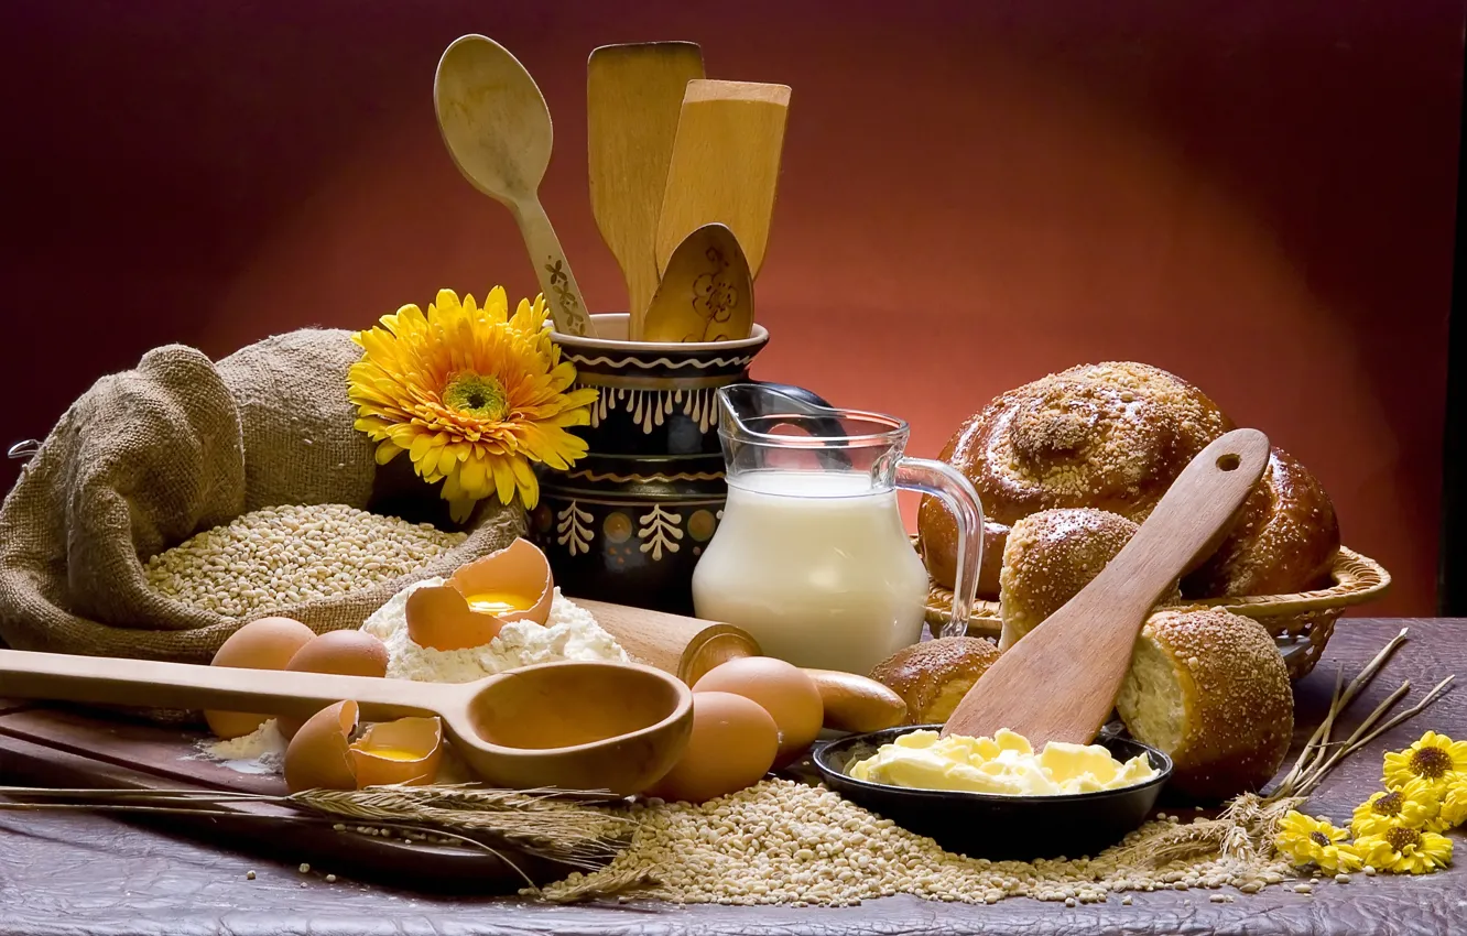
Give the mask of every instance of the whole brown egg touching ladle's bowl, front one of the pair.
M 703 802 L 753 786 L 778 751 L 779 728 L 763 706 L 732 692 L 694 692 L 688 747 L 647 795 Z

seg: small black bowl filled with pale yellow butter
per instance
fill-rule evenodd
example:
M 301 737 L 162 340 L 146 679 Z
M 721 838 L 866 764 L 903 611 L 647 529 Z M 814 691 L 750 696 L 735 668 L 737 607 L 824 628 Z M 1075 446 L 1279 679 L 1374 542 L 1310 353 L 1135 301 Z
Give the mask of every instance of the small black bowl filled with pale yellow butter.
M 889 728 L 816 751 L 826 786 L 974 858 L 1077 858 L 1152 814 L 1166 754 L 1127 738 L 1033 751 L 1012 732 L 939 738 L 942 725 Z

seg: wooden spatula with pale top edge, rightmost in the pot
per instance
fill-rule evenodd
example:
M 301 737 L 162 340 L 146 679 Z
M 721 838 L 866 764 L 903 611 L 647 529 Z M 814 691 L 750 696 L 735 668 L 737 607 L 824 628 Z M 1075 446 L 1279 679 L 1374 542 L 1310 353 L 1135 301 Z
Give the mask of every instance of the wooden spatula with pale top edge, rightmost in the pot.
M 689 233 L 716 222 L 734 232 L 758 276 L 788 113 L 788 85 L 688 82 L 657 219 L 659 274 Z

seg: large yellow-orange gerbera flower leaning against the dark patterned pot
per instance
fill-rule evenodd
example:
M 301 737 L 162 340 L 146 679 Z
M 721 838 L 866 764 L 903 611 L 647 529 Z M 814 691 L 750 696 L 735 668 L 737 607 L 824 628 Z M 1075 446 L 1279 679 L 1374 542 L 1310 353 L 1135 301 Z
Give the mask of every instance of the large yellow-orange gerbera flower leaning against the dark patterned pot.
M 566 468 L 585 442 L 565 431 L 590 423 L 596 390 L 569 390 L 575 368 L 546 327 L 546 304 L 521 299 L 509 315 L 502 288 L 484 307 L 440 289 L 424 315 L 403 305 L 381 324 L 358 332 L 362 359 L 349 373 L 356 428 L 377 442 L 377 464 L 400 452 L 462 521 L 474 503 L 518 493 L 535 506 L 540 487 L 530 462 Z

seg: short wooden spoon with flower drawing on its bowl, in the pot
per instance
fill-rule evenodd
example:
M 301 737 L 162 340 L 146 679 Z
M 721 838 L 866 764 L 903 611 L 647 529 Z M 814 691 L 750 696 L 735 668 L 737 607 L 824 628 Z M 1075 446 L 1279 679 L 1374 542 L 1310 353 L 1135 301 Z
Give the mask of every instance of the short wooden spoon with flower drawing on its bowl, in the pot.
M 754 327 L 754 277 L 734 232 L 704 224 L 678 245 L 647 307 L 648 342 L 729 342 Z

